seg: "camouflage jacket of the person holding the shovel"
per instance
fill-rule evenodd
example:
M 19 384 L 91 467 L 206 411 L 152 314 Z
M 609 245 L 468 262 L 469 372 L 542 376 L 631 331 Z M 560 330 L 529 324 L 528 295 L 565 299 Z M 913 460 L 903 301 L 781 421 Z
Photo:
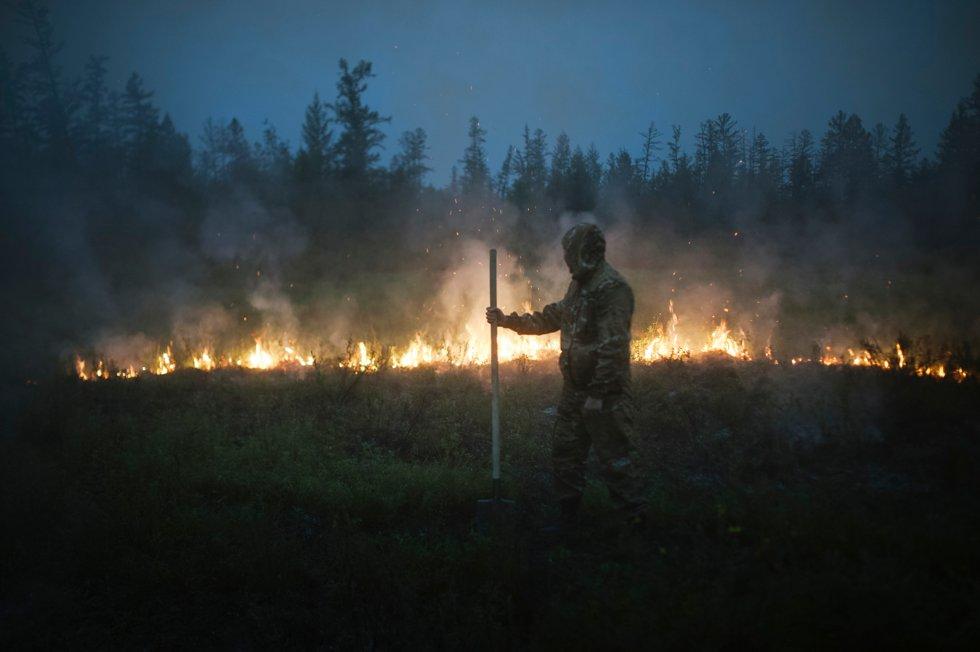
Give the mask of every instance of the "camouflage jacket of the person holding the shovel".
M 566 383 L 602 398 L 629 392 L 633 291 L 609 263 L 585 281 L 572 280 L 565 297 L 540 312 L 511 313 L 501 324 L 522 335 L 561 330 Z

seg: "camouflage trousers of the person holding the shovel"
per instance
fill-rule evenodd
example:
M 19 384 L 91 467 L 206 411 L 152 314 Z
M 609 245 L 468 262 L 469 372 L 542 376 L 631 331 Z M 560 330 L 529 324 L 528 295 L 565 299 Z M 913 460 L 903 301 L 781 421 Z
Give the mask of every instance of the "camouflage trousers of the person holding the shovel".
M 559 500 L 581 497 L 585 462 L 595 447 L 602 478 L 617 506 L 628 513 L 643 507 L 640 479 L 633 462 L 633 398 L 607 397 L 602 409 L 583 413 L 587 394 L 566 383 L 558 403 L 552 445 L 555 490 Z

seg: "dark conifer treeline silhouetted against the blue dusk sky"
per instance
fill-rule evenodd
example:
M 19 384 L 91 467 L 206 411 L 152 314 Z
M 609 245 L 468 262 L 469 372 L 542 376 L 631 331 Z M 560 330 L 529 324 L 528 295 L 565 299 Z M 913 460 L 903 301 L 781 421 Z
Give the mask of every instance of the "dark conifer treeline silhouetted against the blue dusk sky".
M 855 205 L 885 203 L 903 212 L 928 208 L 932 226 L 943 219 L 952 227 L 967 226 L 978 209 L 980 77 L 955 108 L 935 159 L 921 155 L 905 114 L 892 126 L 869 129 L 859 116 L 841 111 L 819 138 L 804 129 L 780 146 L 722 113 L 701 124 L 693 155 L 682 148 L 678 126 L 663 134 L 651 122 L 638 134 L 637 154 L 621 149 L 605 160 L 594 146 L 573 145 L 563 133 L 549 142 L 541 129 L 525 127 L 520 144 L 492 171 L 486 131 L 474 117 L 452 182 L 436 191 L 426 186 L 422 129 L 403 133 L 388 165 L 381 164 L 382 127 L 390 117 L 365 103 L 369 62 L 340 60 L 336 96 L 328 102 L 314 94 L 296 151 L 274 125 L 250 140 L 235 118 L 209 119 L 192 145 L 137 73 L 124 88 L 111 89 L 105 57 L 93 56 L 81 79 L 67 79 L 47 10 L 26 1 L 16 15 L 31 54 L 14 64 L 0 53 L 7 178 L 72 178 L 187 209 L 245 189 L 266 204 L 293 209 L 314 231 L 386 226 L 379 208 L 416 201 L 424 192 L 441 201 L 509 202 L 525 220 L 564 211 L 613 217 L 627 210 L 672 220 L 685 231 L 728 228 L 745 209 L 776 220 L 814 209 L 840 217 Z

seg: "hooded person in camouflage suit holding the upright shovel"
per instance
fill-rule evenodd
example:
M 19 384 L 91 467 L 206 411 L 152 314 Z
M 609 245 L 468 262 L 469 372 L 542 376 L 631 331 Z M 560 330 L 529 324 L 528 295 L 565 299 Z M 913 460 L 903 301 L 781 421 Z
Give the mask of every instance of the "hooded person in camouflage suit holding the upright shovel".
M 552 462 L 562 522 L 570 524 L 578 515 L 590 446 L 595 446 L 610 494 L 633 518 L 644 507 L 631 459 L 633 291 L 606 262 L 606 240 L 599 227 L 573 227 L 562 238 L 562 247 L 572 281 L 561 301 L 523 315 L 487 308 L 487 321 L 522 335 L 561 331 L 564 384 Z

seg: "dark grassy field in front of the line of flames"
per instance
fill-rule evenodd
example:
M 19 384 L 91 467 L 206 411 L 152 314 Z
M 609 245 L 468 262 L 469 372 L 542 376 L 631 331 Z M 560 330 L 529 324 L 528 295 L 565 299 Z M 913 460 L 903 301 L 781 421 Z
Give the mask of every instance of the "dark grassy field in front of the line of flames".
M 663 362 L 634 371 L 652 528 L 590 485 L 560 541 L 554 363 L 194 370 L 30 388 L 2 442 L 0 644 L 968 647 L 980 638 L 975 379 Z M 590 462 L 591 464 L 591 462 Z M 594 477 L 594 474 L 593 474 Z

